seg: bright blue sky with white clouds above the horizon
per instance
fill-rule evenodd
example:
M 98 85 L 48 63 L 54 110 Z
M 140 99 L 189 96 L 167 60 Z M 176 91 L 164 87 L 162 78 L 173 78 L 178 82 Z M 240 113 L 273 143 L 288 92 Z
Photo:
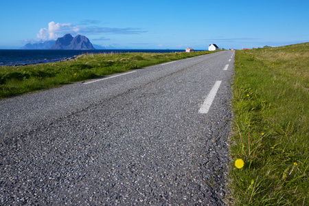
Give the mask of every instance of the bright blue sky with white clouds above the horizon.
M 87 36 L 118 49 L 273 47 L 309 41 L 309 1 L 0 0 L 0 49 Z

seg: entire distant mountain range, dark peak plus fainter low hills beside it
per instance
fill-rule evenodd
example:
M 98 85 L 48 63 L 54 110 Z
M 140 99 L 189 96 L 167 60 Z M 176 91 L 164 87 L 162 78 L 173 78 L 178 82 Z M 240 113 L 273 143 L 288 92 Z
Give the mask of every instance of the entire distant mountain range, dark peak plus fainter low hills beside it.
M 27 43 L 21 49 L 73 49 L 81 50 L 95 49 L 92 43 L 86 36 L 78 35 L 73 37 L 71 34 L 65 34 L 65 36 L 58 38 L 56 41 L 45 41 L 43 43 Z

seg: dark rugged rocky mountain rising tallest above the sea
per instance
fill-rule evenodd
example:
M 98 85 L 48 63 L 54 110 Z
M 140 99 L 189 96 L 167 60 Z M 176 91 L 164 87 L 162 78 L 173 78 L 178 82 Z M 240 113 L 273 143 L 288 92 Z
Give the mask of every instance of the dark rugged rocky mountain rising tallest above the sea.
M 65 34 L 56 40 L 49 49 L 95 49 L 86 36 L 78 35 L 73 38 L 71 34 Z

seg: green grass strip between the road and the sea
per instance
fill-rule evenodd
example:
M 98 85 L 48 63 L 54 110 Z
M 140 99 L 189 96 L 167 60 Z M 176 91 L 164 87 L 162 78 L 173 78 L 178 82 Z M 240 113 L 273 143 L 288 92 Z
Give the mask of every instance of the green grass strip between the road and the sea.
M 67 62 L 0 67 L 0 99 L 210 53 L 87 54 Z

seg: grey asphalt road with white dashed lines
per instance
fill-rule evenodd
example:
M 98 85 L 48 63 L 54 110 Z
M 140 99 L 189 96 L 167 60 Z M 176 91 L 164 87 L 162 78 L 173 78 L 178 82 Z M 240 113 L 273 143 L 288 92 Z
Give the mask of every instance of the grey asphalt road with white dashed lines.
M 1 100 L 0 205 L 224 205 L 233 55 Z

